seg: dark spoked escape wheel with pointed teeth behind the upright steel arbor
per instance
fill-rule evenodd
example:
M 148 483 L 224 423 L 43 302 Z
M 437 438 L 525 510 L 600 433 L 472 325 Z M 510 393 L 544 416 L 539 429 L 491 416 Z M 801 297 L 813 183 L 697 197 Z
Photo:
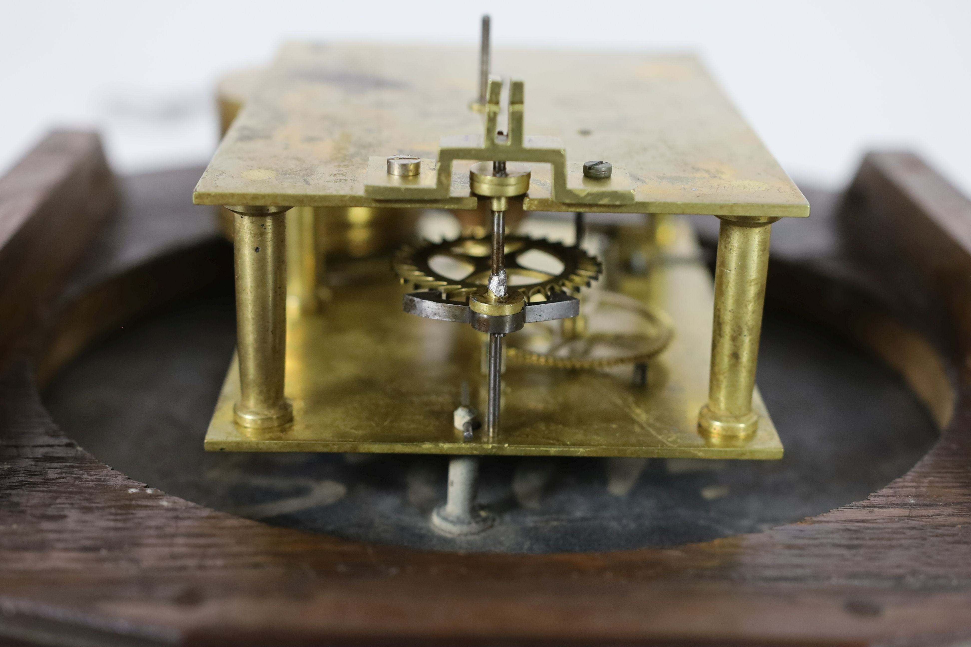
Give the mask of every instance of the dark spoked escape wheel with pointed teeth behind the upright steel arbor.
M 549 298 L 551 292 L 576 292 L 600 275 L 600 261 L 583 249 L 525 236 L 507 236 L 505 240 L 509 289 L 519 290 L 527 301 L 536 295 Z M 562 270 L 551 273 L 521 265 L 519 259 L 533 250 L 555 258 Z M 407 244 L 394 254 L 391 265 L 402 283 L 414 284 L 419 290 L 437 290 L 443 298 L 462 301 L 488 282 L 490 254 L 490 239 L 463 237 L 442 243 Z M 430 265 L 436 256 L 465 266 L 468 274 L 454 279 L 436 272 Z M 532 282 L 528 282 L 530 279 Z

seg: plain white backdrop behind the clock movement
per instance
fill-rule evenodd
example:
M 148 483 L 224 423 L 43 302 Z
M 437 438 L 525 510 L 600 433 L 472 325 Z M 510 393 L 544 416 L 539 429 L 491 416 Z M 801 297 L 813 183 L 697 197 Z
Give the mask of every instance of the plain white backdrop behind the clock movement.
M 971 194 L 971 2 L 943 0 L 0 0 L 0 172 L 54 126 L 121 172 L 204 163 L 221 73 L 287 38 L 471 46 L 484 12 L 496 48 L 697 51 L 798 180 L 909 148 Z

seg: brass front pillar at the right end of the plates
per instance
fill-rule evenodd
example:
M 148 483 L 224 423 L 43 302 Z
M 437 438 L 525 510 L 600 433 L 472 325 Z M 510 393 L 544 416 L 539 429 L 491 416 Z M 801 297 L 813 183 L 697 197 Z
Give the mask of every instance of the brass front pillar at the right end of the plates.
M 708 404 L 698 416 L 701 434 L 714 443 L 745 441 L 758 429 L 752 394 L 769 269 L 769 235 L 776 220 L 721 218 Z

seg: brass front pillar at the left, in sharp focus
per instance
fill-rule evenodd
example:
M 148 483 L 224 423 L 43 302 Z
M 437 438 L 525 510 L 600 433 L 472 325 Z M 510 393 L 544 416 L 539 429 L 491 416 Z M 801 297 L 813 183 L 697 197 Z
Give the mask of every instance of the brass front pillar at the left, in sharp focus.
M 288 207 L 227 207 L 234 212 L 236 347 L 240 401 L 236 423 L 278 427 L 293 419 L 284 397 L 286 216 Z

